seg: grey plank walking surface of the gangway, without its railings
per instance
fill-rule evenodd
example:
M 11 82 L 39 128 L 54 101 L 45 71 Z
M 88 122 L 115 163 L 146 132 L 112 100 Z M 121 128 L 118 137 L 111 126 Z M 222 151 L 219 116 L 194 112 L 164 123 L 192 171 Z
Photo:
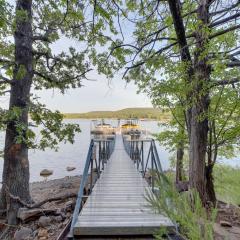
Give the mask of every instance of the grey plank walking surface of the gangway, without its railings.
M 152 235 L 160 226 L 174 228 L 167 217 L 152 212 L 146 191 L 151 188 L 117 135 L 114 152 L 73 228 L 74 237 Z

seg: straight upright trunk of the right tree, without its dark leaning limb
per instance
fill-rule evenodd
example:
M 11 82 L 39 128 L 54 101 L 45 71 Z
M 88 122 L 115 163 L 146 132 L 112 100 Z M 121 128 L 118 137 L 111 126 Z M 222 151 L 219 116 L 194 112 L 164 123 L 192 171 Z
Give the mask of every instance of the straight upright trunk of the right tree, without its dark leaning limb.
M 210 80 L 210 66 L 205 52 L 208 43 L 206 26 L 209 23 L 207 0 L 199 1 L 197 15 L 200 20 L 196 31 L 196 50 L 194 53 L 193 99 L 191 109 L 190 131 L 190 187 L 196 188 L 205 205 L 208 201 L 206 187 L 206 153 L 208 144 L 208 108 L 209 92 L 207 86 Z M 204 56 L 205 54 L 205 56 Z

